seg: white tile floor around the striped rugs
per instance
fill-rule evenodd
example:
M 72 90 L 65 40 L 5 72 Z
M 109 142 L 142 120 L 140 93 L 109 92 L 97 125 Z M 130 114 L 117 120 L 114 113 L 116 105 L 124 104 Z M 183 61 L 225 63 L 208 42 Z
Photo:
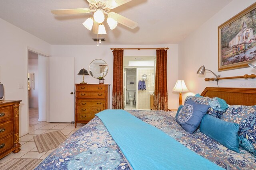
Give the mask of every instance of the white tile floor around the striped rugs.
M 0 159 L 0 164 L 9 160 L 10 158 L 38 158 L 44 160 L 54 149 L 48 152 L 38 153 L 33 137 L 42 133 L 48 133 L 56 130 L 60 130 L 66 137 L 72 135 L 75 131 L 80 129 L 85 124 L 77 123 L 48 123 L 38 120 L 38 109 L 29 109 L 29 131 L 27 135 L 20 137 L 20 152 L 14 154 L 10 153 L 8 156 Z

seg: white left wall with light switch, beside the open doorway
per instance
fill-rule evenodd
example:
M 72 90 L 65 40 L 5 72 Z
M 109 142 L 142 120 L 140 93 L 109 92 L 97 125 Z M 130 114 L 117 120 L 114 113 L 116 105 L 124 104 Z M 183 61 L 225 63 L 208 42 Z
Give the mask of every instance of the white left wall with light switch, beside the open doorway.
M 28 47 L 50 54 L 51 45 L 2 19 L 0 28 L 0 81 L 4 84 L 5 100 L 22 100 L 19 109 L 22 136 L 28 132 Z

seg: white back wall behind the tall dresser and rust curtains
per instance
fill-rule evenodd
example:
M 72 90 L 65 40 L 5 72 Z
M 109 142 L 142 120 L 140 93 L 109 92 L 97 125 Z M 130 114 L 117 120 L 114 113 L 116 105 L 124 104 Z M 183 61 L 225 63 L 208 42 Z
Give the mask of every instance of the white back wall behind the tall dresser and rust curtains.
M 113 53 L 110 48 L 157 48 L 169 47 L 167 59 L 167 81 L 168 81 L 168 108 L 177 108 L 178 94 L 172 92 L 178 78 L 178 45 L 52 45 L 52 56 L 75 57 L 75 82 L 80 83 L 82 76 L 77 75 L 83 67 L 88 70 L 94 59 L 102 59 L 108 64 L 108 74 L 105 84 L 113 83 Z M 156 56 L 156 50 L 124 50 L 124 56 Z M 85 82 L 98 84 L 98 79 L 88 75 Z M 110 86 L 110 108 L 112 108 L 112 86 Z

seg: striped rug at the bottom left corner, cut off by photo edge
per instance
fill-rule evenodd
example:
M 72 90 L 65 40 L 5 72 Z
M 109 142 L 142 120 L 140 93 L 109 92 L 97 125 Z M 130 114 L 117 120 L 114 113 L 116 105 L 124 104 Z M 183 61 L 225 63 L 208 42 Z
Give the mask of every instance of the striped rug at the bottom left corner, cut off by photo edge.
M 0 170 L 33 170 L 42 159 L 11 158 L 0 165 Z

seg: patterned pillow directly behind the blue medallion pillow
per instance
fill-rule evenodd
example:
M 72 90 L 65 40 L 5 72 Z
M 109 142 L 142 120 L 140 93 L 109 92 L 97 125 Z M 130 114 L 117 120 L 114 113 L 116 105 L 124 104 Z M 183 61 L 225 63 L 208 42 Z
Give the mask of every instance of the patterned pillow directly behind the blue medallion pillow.
M 210 109 L 208 110 L 207 114 L 216 117 L 218 119 L 221 119 L 222 114 L 224 110 L 221 108 L 220 103 L 218 102 L 217 98 L 209 98 L 209 97 L 195 97 L 195 96 L 187 96 L 186 100 L 191 99 L 197 104 L 206 104 L 210 106 Z

